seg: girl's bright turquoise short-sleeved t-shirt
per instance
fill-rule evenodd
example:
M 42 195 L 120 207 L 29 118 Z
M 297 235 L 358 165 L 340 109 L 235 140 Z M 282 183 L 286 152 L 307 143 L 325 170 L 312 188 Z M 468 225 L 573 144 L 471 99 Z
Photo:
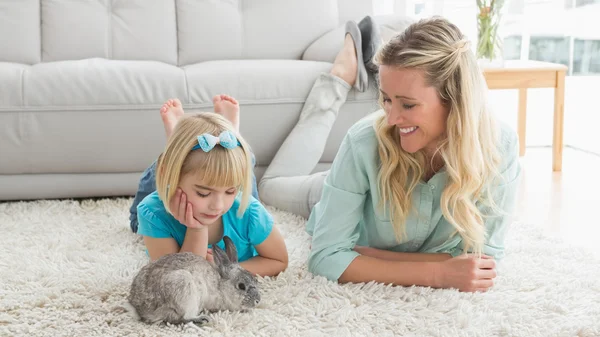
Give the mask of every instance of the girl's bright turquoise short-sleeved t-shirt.
M 254 197 L 242 218 L 237 217 L 240 198 L 236 198 L 231 209 L 223 214 L 223 235 L 231 238 L 238 252 L 238 260 L 245 261 L 258 255 L 254 248 L 271 234 L 273 217 Z M 169 212 L 158 197 L 158 192 L 149 194 L 138 205 L 138 234 L 152 238 L 174 238 L 179 247 L 183 245 L 187 227 Z M 225 249 L 223 240 L 217 245 Z M 211 245 L 209 245 L 211 247 Z

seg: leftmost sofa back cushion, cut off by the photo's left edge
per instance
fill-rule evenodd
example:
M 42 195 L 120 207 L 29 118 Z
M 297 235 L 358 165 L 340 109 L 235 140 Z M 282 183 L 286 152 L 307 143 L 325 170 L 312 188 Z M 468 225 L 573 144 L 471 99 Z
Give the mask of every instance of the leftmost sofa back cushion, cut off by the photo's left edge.
M 39 0 L 0 1 L 0 62 L 40 62 Z

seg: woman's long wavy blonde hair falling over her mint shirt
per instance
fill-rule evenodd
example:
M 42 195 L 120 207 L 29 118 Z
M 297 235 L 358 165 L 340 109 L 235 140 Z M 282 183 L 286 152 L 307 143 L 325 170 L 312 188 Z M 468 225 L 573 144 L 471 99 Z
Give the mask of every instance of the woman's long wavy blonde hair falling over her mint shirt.
M 500 176 L 499 131 L 487 108 L 487 84 L 469 46 L 458 27 L 432 17 L 413 23 L 382 46 L 376 63 L 423 71 L 426 83 L 436 88 L 449 109 L 445 139 L 435 151 L 444 160 L 448 174 L 441 209 L 461 235 L 464 251 L 480 254 L 485 242 L 485 215 L 478 206 L 498 209 L 490 183 Z M 375 129 L 381 158 L 380 200 L 384 208 L 389 207 L 394 232 L 400 239 L 412 207 L 411 195 L 427 171 L 428 159 L 423 150 L 414 154 L 402 150 L 398 132 L 387 124 L 385 115 L 377 118 Z

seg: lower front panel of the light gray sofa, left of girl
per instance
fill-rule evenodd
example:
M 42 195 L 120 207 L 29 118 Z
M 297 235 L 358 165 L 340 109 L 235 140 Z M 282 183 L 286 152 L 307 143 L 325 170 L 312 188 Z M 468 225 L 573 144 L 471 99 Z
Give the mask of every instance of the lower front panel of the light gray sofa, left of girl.
M 158 108 L 0 111 L 0 175 L 143 170 L 164 146 Z

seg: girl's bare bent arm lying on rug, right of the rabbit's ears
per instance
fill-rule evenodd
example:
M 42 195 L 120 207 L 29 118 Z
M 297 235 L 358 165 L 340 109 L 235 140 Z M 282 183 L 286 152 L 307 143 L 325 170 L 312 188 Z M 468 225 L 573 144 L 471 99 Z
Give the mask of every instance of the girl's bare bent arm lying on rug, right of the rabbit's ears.
M 273 226 L 269 236 L 255 248 L 258 256 L 240 262 L 247 271 L 260 276 L 275 276 L 287 268 L 287 248 L 277 227 Z

